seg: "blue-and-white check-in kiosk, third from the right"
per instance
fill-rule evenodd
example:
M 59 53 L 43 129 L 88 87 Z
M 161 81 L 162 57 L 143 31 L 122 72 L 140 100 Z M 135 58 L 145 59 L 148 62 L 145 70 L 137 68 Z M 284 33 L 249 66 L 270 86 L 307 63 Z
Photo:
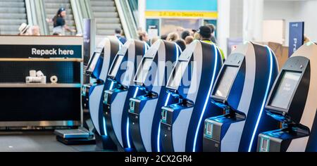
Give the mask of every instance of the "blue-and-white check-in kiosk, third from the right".
M 187 46 L 168 80 L 174 103 L 161 108 L 161 146 L 164 152 L 202 151 L 203 120 L 220 115 L 210 94 L 223 65 L 214 44 L 194 41 Z

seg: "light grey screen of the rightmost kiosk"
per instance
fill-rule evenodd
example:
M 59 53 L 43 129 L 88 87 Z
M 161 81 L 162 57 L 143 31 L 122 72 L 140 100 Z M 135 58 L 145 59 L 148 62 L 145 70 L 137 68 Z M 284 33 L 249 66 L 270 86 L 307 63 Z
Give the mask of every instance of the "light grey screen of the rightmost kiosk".
M 287 109 L 301 75 L 299 72 L 284 72 L 280 85 L 271 101 L 271 106 Z

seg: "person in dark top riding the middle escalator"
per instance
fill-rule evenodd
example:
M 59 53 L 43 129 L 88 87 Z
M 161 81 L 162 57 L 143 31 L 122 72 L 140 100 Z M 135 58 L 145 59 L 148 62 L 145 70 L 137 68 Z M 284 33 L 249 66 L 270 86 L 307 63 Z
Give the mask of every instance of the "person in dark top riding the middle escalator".
M 53 25 L 54 25 L 53 34 L 54 35 L 65 35 L 65 31 L 76 32 L 76 30 L 71 29 L 66 24 L 66 20 L 65 20 L 66 16 L 67 16 L 67 13 L 66 13 L 65 8 L 59 8 L 53 19 L 51 19 L 51 20 L 46 19 L 46 21 L 48 23 L 53 23 Z

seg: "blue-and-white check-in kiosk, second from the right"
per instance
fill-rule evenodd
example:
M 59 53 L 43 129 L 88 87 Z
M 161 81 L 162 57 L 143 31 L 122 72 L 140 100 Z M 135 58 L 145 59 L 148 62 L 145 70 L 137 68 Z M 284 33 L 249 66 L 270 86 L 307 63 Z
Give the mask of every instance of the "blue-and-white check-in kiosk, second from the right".
M 277 75 L 278 63 L 268 46 L 251 42 L 237 46 L 211 93 L 211 102 L 225 113 L 205 120 L 204 151 L 255 151 L 257 135 L 278 128 L 263 113 Z

